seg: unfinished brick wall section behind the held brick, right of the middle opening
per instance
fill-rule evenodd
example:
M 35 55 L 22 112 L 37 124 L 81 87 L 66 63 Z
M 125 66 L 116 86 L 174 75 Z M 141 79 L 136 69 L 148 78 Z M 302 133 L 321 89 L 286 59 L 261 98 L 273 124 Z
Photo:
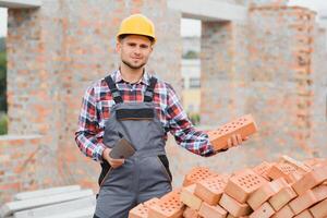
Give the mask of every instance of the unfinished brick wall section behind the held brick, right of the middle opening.
M 270 5 L 252 8 L 246 24 L 204 22 L 202 124 L 253 113 L 258 133 L 216 158 L 185 155 L 189 165 L 232 170 L 280 154 L 326 155 L 326 72 L 319 68 L 326 50 L 314 19 L 307 9 Z

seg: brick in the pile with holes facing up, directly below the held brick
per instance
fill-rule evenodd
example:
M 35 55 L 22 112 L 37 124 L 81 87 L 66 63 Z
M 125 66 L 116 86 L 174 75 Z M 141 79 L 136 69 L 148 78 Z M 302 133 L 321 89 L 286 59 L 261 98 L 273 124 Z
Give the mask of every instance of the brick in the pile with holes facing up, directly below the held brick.
M 267 182 L 267 180 L 253 170 L 245 169 L 228 180 L 225 193 L 240 203 L 245 203 L 254 191 Z

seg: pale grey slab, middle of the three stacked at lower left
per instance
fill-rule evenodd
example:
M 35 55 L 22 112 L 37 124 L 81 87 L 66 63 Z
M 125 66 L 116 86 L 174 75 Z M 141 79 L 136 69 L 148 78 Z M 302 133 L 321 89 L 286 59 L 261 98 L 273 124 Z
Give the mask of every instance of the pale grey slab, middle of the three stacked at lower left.
M 72 201 L 72 199 L 90 196 L 90 195 L 93 195 L 92 190 L 82 190 L 82 191 L 75 191 L 75 192 L 70 192 L 70 193 L 64 193 L 64 194 L 56 194 L 51 197 L 49 197 L 49 196 L 35 197 L 35 198 L 29 198 L 29 199 L 10 202 L 10 203 L 5 203 L 0 208 L 0 217 L 10 216 L 13 213 L 24 210 L 24 209 L 31 209 L 31 208 L 35 208 L 35 207 L 41 207 L 41 206 L 46 206 L 46 205 L 68 202 L 68 201 Z

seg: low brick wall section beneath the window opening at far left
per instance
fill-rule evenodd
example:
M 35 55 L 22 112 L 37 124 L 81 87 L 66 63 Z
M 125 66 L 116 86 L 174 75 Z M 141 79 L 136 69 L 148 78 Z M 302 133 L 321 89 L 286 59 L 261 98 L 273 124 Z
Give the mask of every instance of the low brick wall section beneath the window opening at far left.
M 37 189 L 37 156 L 41 146 L 38 135 L 0 137 L 0 204 L 22 190 Z

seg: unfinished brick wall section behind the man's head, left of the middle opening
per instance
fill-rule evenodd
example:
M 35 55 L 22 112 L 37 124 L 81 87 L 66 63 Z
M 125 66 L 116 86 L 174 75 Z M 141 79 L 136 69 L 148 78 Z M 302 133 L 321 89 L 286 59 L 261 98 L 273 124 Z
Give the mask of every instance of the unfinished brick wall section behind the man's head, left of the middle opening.
M 158 43 L 147 70 L 180 93 L 181 14 L 165 0 L 50 0 L 39 9 L 9 9 L 9 134 L 40 134 L 44 149 L 35 154 L 36 165 L 50 166 L 51 172 L 36 170 L 37 185 L 15 191 L 72 183 L 96 190 L 99 166 L 83 157 L 74 132 L 86 87 L 118 68 L 114 36 L 131 13 L 144 13 L 156 25 Z

